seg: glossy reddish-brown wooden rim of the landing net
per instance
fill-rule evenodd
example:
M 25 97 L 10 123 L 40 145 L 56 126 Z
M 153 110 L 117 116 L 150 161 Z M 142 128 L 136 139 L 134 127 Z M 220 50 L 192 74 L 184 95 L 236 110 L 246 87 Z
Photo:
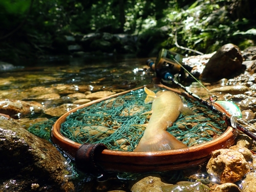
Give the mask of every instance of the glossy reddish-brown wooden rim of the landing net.
M 174 91 L 181 95 L 181 92 L 178 90 L 168 88 L 162 84 L 157 86 Z M 80 105 L 77 108 L 65 113 L 52 126 L 51 138 L 53 143 L 59 146 L 64 152 L 74 159 L 81 144 L 64 137 L 60 132 L 61 123 L 65 122 L 67 116 L 79 109 L 85 108 L 94 103 L 98 103 L 102 100 L 117 97 L 119 95 L 142 88 L 144 88 L 144 86 L 97 99 Z M 191 98 L 190 95 L 187 96 Z M 94 160 L 105 170 L 117 170 L 124 172 L 162 172 L 165 170 L 182 169 L 204 163 L 207 159 L 209 159 L 212 151 L 220 148 L 227 148 L 233 145 L 237 135 L 238 131 L 228 126 L 226 131 L 218 138 L 185 149 L 160 152 L 123 152 L 106 149 L 103 150 L 101 154 L 97 155 Z

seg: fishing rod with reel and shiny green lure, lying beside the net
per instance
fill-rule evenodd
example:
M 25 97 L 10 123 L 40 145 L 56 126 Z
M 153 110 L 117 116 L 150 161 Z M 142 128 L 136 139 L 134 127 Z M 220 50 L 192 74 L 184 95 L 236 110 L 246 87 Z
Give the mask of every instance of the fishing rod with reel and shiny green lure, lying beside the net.
M 211 95 L 207 100 L 203 100 L 198 95 L 187 90 L 187 88 L 184 87 L 183 84 L 175 80 L 174 74 L 184 73 L 185 71 L 193 79 L 195 79 L 205 90 L 207 90 L 207 92 L 209 92 L 209 90 L 190 73 L 192 68 L 181 64 L 182 58 L 183 56 L 178 53 L 162 49 L 159 52 L 156 62 L 154 62 L 152 59 L 148 59 L 146 63 L 153 71 L 156 72 L 158 78 L 172 81 L 174 84 L 182 88 L 189 96 L 195 98 L 196 100 L 207 106 L 212 112 L 217 113 L 219 116 L 221 116 L 228 126 L 237 128 L 253 140 L 256 140 L 256 135 L 254 135 L 252 132 L 247 130 L 243 125 L 239 123 L 240 121 L 248 125 L 248 123 L 246 123 L 242 119 L 241 111 L 236 104 L 229 101 L 217 101 L 218 98 L 215 95 Z M 185 77 L 184 74 L 180 75 L 182 77 Z M 225 113 L 222 113 L 220 110 L 224 111 Z

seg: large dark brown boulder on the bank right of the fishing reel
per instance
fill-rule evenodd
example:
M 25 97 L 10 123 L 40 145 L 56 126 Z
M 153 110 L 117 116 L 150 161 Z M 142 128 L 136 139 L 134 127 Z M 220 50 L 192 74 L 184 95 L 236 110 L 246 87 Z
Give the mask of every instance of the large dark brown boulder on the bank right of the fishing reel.
M 207 62 L 200 78 L 204 81 L 218 81 L 239 75 L 243 69 L 243 58 L 238 46 L 222 46 Z

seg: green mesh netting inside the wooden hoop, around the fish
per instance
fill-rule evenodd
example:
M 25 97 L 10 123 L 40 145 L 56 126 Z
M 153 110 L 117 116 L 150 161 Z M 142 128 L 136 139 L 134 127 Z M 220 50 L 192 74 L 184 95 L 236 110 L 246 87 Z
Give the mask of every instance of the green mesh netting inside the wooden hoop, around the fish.
M 155 89 L 154 91 L 159 91 Z M 61 124 L 61 133 L 78 143 L 104 143 L 110 150 L 133 151 L 143 135 L 151 111 L 144 104 L 143 89 L 110 98 L 70 114 Z M 226 129 L 224 121 L 197 101 L 187 100 L 194 115 L 180 115 L 167 131 L 193 146 L 218 137 Z

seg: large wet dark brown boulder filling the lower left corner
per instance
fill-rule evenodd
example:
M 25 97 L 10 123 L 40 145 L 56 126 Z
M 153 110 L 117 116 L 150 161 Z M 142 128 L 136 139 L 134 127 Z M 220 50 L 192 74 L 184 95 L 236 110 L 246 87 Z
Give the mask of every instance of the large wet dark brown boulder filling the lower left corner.
M 48 141 L 0 115 L 0 191 L 74 191 L 66 159 Z

